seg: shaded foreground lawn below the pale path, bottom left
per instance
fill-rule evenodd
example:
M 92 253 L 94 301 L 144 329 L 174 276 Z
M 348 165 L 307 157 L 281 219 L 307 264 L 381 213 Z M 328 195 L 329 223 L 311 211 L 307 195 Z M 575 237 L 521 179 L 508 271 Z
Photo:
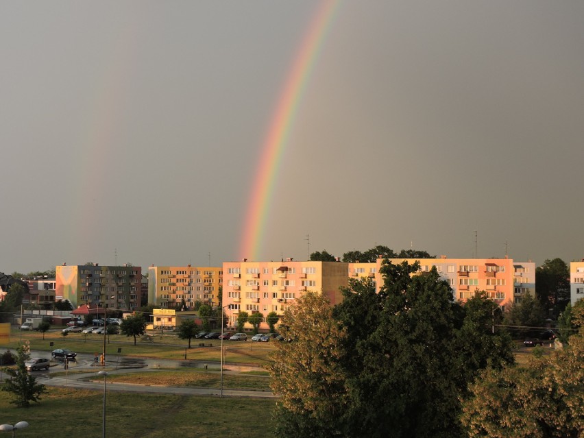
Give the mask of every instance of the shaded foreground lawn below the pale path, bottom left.
M 100 437 L 103 392 L 47 387 L 40 403 L 16 409 L 0 392 L 0 424 L 26 421 L 16 436 Z M 271 437 L 274 400 L 108 391 L 106 433 L 116 438 Z M 7 435 L 8 436 L 8 435 Z

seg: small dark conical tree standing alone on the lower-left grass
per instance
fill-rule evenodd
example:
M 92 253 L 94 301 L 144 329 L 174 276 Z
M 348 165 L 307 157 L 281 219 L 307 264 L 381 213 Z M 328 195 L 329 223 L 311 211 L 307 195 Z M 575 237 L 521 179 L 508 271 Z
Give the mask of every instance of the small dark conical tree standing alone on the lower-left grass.
M 19 408 L 29 407 L 30 402 L 39 402 L 41 394 L 45 392 L 45 385 L 38 384 L 36 378 L 27 372 L 25 362 L 29 358 L 28 345 L 19 345 L 16 348 L 16 367 L 3 369 L 10 378 L 4 380 L 0 389 L 12 393 L 10 403 Z

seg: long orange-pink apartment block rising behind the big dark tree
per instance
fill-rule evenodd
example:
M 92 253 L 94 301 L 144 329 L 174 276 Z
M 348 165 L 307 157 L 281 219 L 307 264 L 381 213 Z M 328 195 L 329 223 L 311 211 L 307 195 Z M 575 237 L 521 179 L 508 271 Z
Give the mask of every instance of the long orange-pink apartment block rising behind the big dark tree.
M 383 259 L 376 263 L 349 263 L 349 276 L 372 277 L 377 287 L 383 284 L 379 273 Z M 475 291 L 486 291 L 489 297 L 504 310 L 522 297 L 535 297 L 535 263 L 514 262 L 511 258 L 392 258 L 391 263 L 419 262 L 420 271 L 428 272 L 436 267 L 441 278 L 452 288 L 454 300 L 465 302 Z

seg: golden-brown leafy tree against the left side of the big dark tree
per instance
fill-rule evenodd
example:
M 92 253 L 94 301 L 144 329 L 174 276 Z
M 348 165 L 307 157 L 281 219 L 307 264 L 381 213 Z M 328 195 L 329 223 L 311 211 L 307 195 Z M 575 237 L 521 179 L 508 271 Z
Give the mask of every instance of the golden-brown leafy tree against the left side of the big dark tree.
M 332 318 L 321 293 L 308 291 L 282 317 L 282 335 L 267 366 L 270 386 L 280 396 L 276 436 L 340 437 L 344 382 L 339 361 L 345 332 Z M 350 435 L 346 435 L 350 436 Z

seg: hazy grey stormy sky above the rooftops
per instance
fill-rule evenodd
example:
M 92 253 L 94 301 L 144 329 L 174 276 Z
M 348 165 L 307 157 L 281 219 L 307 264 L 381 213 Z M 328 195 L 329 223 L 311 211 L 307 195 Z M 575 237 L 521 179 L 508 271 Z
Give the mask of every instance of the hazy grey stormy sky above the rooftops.
M 583 22 L 580 0 L 2 2 L 0 271 L 580 260 Z

